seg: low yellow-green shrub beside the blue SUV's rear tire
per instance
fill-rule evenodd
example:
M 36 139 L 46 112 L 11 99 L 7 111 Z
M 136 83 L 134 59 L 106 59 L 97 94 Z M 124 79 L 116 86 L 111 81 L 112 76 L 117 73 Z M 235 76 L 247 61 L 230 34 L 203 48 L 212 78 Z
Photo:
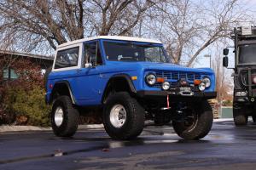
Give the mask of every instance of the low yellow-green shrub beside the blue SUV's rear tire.
M 44 89 L 38 86 L 31 90 L 23 88 L 7 88 L 4 105 L 6 112 L 15 113 L 19 120 L 25 120 L 27 125 L 49 126 L 49 105 L 44 104 Z M 27 119 L 26 119 L 27 118 Z

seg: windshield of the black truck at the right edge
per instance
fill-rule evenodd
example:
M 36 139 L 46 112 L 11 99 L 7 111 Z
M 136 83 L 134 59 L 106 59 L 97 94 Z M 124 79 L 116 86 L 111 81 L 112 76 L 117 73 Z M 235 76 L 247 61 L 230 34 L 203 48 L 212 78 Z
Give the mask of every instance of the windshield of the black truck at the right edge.
M 256 44 L 245 44 L 239 46 L 239 64 L 256 63 Z

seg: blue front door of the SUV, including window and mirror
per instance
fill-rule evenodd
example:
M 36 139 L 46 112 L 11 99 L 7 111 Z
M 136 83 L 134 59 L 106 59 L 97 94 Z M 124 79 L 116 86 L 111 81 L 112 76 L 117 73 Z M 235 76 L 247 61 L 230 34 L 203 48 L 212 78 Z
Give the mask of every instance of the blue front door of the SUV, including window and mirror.
M 77 78 L 78 102 L 80 105 L 98 105 L 101 102 L 102 87 L 102 51 L 98 41 L 85 42 L 82 68 Z

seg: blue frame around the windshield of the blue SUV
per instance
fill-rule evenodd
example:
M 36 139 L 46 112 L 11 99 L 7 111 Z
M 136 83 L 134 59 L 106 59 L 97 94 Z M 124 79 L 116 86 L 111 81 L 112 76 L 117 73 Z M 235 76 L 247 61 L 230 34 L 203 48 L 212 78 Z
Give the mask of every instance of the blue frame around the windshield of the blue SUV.
M 166 59 L 166 62 L 151 62 L 151 61 L 125 61 L 125 60 L 108 60 L 107 59 L 107 54 L 104 46 L 104 42 L 116 42 L 116 43 L 132 43 L 136 45 L 146 45 L 146 46 L 152 46 L 152 47 L 160 47 L 162 50 L 162 53 L 164 55 L 164 58 Z M 150 63 L 171 63 L 171 60 L 169 59 L 166 49 L 164 48 L 162 43 L 152 43 L 152 42 L 136 42 L 136 41 L 123 41 L 123 40 L 109 40 L 109 39 L 102 39 L 102 49 L 103 49 L 103 57 L 106 59 L 108 62 L 150 62 Z

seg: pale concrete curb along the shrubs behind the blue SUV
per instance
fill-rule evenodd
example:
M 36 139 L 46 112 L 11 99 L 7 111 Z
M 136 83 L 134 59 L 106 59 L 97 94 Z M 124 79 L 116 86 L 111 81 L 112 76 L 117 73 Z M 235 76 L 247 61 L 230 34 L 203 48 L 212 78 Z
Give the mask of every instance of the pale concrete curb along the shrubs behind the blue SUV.
M 103 124 L 79 125 L 79 130 L 102 128 Z M 0 133 L 9 132 L 26 132 L 26 131 L 51 131 L 51 127 L 35 127 L 35 126 L 0 126 Z

